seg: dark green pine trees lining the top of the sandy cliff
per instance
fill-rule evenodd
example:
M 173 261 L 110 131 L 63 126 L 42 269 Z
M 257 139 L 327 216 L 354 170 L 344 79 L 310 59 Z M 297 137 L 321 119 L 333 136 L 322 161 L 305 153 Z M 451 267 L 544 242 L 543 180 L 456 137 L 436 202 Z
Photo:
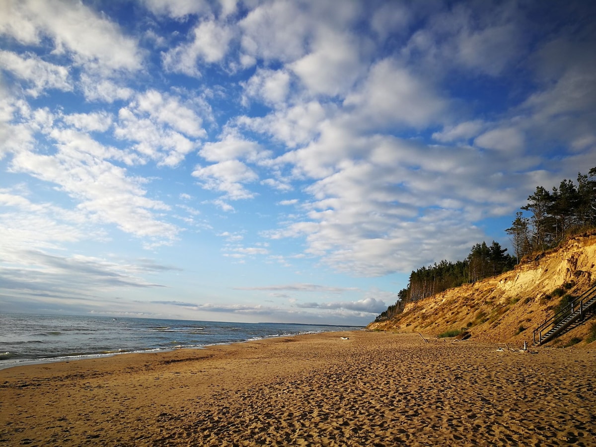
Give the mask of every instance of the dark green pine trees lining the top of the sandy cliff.
M 552 193 L 544 187 L 536 187 L 527 200 L 522 210 L 529 216 L 522 211 L 517 212 L 511 228 L 505 230 L 510 235 L 514 256 L 496 241 L 492 241 L 490 246 L 483 242 L 474 245 L 464 260 L 442 260 L 412 271 L 408 287 L 399 291 L 395 305 L 390 305 L 375 321 L 393 318 L 403 312 L 406 303 L 511 270 L 524 256 L 536 251 L 544 252 L 575 232 L 594 228 L 596 167 L 586 175 L 579 173 L 578 185 L 565 179 L 558 188 L 552 188 Z

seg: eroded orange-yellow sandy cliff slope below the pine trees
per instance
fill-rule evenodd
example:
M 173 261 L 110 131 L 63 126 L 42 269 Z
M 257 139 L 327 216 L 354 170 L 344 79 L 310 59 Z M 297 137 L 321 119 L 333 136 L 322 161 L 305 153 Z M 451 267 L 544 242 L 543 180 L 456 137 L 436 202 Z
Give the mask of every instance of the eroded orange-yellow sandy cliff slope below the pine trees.
M 409 303 L 401 315 L 373 322 L 368 328 L 429 335 L 466 328 L 477 340 L 532 343 L 532 331 L 552 315 L 561 300 L 552 291 L 563 288 L 578 296 L 594 281 L 596 233 L 591 232 L 525 260 L 513 271 Z M 573 337 L 585 339 L 590 325 L 587 322 L 551 344 L 562 345 Z

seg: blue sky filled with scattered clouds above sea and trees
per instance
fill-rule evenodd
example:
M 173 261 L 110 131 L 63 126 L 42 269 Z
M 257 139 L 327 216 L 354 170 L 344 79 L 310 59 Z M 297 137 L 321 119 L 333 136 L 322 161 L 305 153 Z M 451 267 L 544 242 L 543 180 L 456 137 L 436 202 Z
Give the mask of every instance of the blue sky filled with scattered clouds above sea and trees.
M 0 309 L 367 324 L 596 166 L 586 1 L 2 1 Z

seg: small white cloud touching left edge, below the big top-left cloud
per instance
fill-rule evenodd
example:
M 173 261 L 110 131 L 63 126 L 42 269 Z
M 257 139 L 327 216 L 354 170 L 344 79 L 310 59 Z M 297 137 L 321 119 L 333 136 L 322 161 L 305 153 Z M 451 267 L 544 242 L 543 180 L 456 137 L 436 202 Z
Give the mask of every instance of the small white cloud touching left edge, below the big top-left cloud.
M 41 60 L 34 54 L 26 54 L 23 58 L 14 52 L 0 50 L 0 67 L 32 84 L 32 88 L 27 89 L 26 93 L 33 97 L 37 97 L 48 88 L 62 91 L 73 89 L 66 67 Z

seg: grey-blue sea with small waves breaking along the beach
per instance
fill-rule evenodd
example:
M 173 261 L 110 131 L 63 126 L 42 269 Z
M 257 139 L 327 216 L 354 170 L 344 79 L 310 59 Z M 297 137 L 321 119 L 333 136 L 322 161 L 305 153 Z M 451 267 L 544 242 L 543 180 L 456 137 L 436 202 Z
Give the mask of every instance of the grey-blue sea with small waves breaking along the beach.
M 361 329 L 319 324 L 0 313 L 0 370 L 120 353 L 200 349 L 269 337 Z

